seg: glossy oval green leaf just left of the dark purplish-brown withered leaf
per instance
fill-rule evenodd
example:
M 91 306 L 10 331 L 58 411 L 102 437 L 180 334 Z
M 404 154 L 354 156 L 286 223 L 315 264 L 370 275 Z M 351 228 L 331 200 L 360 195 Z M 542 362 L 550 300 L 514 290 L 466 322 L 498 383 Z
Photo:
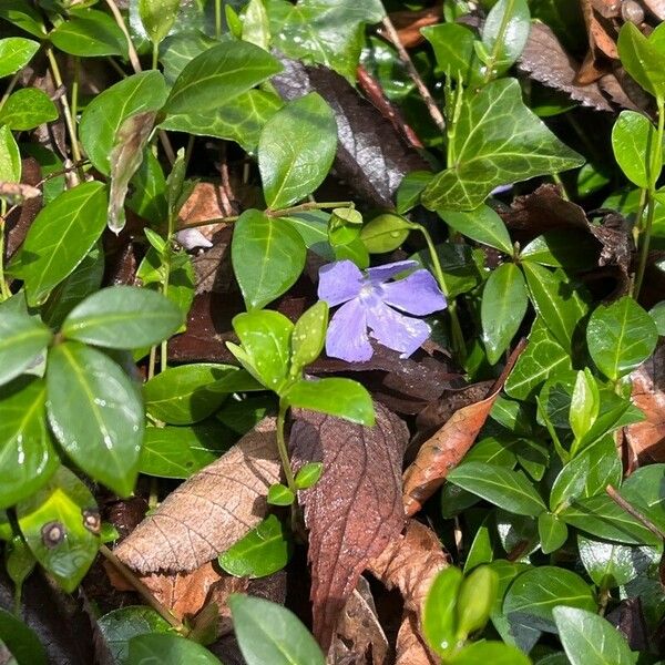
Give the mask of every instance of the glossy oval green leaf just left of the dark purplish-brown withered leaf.
M 311 194 L 328 175 L 337 150 L 337 123 L 313 92 L 270 117 L 258 140 L 258 168 L 266 203 L 284 208 Z

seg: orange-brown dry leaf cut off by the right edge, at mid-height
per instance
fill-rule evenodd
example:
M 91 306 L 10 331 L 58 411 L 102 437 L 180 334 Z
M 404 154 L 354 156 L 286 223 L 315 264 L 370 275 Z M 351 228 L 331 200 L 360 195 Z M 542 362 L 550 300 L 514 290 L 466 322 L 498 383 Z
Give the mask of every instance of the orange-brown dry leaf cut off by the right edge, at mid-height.
M 641 462 L 665 462 L 665 346 L 632 375 L 633 403 L 646 420 L 626 427 L 626 439 Z

